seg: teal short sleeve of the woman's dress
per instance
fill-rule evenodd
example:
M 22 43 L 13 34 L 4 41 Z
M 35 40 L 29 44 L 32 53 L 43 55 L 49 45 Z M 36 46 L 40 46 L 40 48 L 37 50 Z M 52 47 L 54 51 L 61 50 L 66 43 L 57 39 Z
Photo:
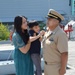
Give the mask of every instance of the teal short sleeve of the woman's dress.
M 17 48 L 21 48 L 21 47 L 25 46 L 25 43 L 23 42 L 23 40 L 19 34 L 13 35 L 13 43 L 14 43 L 15 47 L 17 47 Z

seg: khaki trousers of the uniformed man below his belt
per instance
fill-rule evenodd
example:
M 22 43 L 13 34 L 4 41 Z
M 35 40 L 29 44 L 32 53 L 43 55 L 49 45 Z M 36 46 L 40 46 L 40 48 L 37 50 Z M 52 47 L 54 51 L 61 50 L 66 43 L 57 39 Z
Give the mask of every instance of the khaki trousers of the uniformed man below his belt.
M 50 64 L 44 66 L 44 75 L 59 75 L 60 65 Z

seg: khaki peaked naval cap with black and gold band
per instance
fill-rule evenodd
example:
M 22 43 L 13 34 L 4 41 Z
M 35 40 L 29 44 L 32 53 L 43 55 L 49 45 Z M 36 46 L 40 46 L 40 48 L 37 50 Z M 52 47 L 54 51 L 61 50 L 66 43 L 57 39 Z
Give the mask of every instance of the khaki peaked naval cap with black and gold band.
M 57 11 L 55 11 L 54 9 L 49 9 L 49 12 L 48 12 L 46 18 L 55 18 L 55 19 L 59 20 L 59 22 L 64 20 L 64 17 L 61 14 L 59 14 Z

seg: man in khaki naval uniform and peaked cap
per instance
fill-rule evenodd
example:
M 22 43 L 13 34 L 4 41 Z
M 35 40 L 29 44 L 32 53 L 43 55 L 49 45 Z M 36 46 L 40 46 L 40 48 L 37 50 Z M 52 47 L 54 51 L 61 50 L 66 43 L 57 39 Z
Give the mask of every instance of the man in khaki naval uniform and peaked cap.
M 64 75 L 68 59 L 68 38 L 59 27 L 64 17 L 53 9 L 47 15 L 48 31 L 43 39 L 45 75 Z

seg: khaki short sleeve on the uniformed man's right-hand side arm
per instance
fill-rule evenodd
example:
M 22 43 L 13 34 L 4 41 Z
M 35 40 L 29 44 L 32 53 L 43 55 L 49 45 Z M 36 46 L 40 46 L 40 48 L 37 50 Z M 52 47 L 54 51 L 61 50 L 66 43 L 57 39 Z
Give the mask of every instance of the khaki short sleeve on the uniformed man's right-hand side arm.
M 59 34 L 57 48 L 60 53 L 68 52 L 68 37 L 65 33 Z

